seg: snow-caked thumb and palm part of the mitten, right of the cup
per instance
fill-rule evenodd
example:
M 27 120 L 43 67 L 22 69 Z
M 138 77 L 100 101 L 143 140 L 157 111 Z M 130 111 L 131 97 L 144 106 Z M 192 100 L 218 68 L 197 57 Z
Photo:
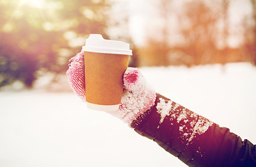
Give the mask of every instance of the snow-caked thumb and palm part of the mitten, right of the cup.
M 111 114 L 130 125 L 133 120 L 140 118 L 155 104 L 156 92 L 146 83 L 137 68 L 128 67 L 123 74 L 123 83 L 124 89 L 119 110 Z

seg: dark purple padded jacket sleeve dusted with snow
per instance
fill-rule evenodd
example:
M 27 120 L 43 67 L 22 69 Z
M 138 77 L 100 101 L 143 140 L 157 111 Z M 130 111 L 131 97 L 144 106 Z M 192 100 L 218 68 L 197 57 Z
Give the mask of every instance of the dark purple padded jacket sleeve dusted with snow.
M 188 166 L 256 166 L 250 141 L 159 94 L 131 127 Z

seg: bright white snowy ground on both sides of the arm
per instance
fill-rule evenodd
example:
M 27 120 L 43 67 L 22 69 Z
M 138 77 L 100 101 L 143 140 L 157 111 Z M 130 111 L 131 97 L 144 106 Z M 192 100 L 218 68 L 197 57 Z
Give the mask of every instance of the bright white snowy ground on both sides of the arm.
M 143 67 L 158 93 L 256 143 L 256 68 Z M 185 166 L 73 93 L 0 93 L 0 166 Z

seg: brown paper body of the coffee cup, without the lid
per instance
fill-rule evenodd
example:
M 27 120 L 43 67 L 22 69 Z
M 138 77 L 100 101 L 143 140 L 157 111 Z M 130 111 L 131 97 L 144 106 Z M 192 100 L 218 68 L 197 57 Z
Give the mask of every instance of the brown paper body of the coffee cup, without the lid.
M 86 102 L 89 109 L 116 111 L 123 93 L 129 56 L 84 51 Z

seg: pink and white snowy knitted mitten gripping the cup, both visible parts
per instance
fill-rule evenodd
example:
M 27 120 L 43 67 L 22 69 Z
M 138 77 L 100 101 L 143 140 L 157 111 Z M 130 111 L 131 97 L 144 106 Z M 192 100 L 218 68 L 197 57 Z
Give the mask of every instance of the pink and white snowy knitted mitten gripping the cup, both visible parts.
M 71 88 L 85 102 L 84 51 L 70 58 L 69 69 L 66 72 Z M 112 115 L 130 123 L 153 106 L 156 93 L 148 84 L 140 70 L 128 67 L 123 74 L 123 95 L 118 111 L 109 112 Z

